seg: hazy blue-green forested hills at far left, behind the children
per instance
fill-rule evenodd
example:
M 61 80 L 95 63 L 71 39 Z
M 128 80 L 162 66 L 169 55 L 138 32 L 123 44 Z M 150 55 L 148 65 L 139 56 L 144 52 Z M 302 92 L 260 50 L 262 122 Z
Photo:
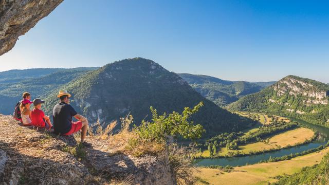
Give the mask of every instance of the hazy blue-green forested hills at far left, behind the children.
M 47 97 L 47 95 L 59 86 L 70 82 L 83 73 L 95 70 L 90 68 L 72 69 L 25 69 L 0 72 L 0 113 L 9 115 L 13 113 L 13 107 L 22 99 L 22 93 L 28 91 L 32 99 Z M 52 73 L 50 73 L 52 72 Z

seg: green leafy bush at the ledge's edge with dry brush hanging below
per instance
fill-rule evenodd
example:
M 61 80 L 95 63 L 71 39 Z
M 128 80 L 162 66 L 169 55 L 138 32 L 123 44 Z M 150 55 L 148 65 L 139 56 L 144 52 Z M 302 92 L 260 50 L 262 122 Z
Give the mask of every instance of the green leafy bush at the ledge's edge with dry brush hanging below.
M 130 146 L 140 144 L 152 145 L 155 151 L 165 151 L 165 160 L 168 160 L 173 174 L 178 184 L 194 184 L 197 182 L 193 173 L 196 168 L 193 167 L 193 153 L 196 152 L 195 147 L 178 146 L 170 141 L 172 136 L 181 136 L 185 139 L 197 139 L 205 132 L 203 126 L 189 121 L 189 118 L 195 114 L 203 103 L 200 102 L 193 109 L 185 107 L 182 114 L 173 112 L 169 115 L 163 114 L 159 116 L 156 109 L 151 107 L 152 122 L 142 121 L 142 124 L 133 129 L 138 137 L 129 140 Z M 168 142 L 169 141 L 169 142 Z M 166 142 L 169 143 L 166 145 Z M 143 147 L 142 147 L 143 148 Z M 150 148 L 150 147 L 147 147 Z M 136 149 L 136 147 L 135 147 Z

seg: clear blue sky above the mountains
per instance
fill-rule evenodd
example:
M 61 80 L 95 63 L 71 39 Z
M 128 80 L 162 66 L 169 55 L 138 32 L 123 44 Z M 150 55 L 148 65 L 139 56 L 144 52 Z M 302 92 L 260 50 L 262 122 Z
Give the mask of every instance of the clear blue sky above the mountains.
M 328 1 L 65 0 L 0 57 L 0 71 L 154 60 L 228 80 L 329 82 Z

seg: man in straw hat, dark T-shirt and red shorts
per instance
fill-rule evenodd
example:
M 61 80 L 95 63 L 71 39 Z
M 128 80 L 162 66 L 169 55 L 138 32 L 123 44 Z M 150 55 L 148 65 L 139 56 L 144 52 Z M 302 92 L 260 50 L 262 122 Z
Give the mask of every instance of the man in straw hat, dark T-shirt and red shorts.
M 52 110 L 54 133 L 67 136 L 81 130 L 81 144 L 90 146 L 89 143 L 85 142 L 88 120 L 79 115 L 69 104 L 71 95 L 66 90 L 61 90 L 57 97 L 60 99 L 60 103 L 56 104 Z M 72 122 L 72 117 L 75 117 L 79 121 Z

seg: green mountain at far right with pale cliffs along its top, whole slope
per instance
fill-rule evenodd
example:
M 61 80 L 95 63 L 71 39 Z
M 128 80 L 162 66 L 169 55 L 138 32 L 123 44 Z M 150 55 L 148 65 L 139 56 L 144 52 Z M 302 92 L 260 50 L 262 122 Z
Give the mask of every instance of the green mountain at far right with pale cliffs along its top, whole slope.
M 243 110 L 295 117 L 329 126 L 329 85 L 287 76 L 259 93 L 245 96 L 228 106 Z

